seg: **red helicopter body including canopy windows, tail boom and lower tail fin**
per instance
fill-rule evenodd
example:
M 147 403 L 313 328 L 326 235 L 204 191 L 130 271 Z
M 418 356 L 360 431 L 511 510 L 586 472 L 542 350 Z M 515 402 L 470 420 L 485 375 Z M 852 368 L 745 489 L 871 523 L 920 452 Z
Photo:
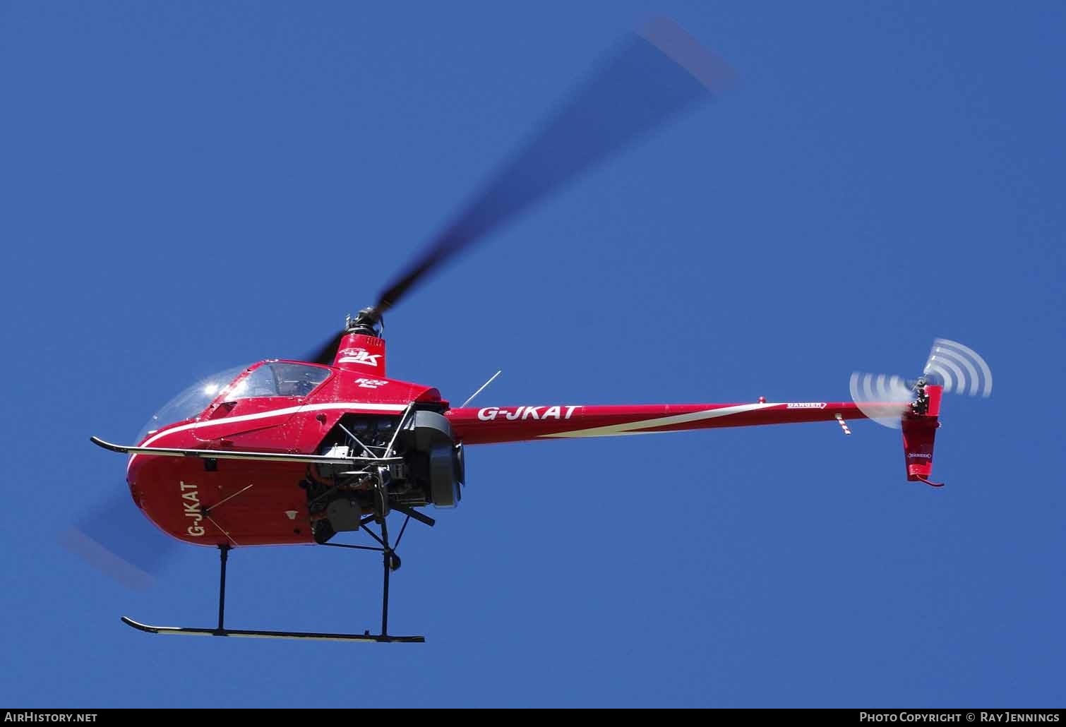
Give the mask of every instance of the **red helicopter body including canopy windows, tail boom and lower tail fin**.
M 360 433 L 368 438 L 371 434 L 366 432 L 379 429 L 390 438 L 390 427 L 405 416 L 410 421 L 416 410 L 442 417 L 447 424 L 432 434 L 441 439 L 450 436 L 458 450 L 494 442 L 834 420 L 849 434 L 847 420 L 867 418 L 850 402 L 763 400 L 611 406 L 559 401 L 451 408 L 434 387 L 389 378 L 386 362 L 382 338 L 349 334 L 333 366 L 270 359 L 198 383 L 158 415 L 159 419 L 171 418 L 168 413 L 178 418 L 154 420 L 149 426 L 155 429 L 146 427 L 138 445 L 204 456 L 144 450 L 131 454 L 127 480 L 134 502 L 163 531 L 192 544 L 313 543 L 316 523 L 330 517 L 323 502 L 314 501 L 326 485 L 316 489 L 321 470 L 298 455 L 323 456 L 334 451 L 330 441 L 336 441 L 339 431 L 362 441 Z M 928 408 L 903 417 L 908 480 L 925 481 L 932 469 L 940 390 L 928 388 Z M 359 432 L 353 427 L 360 427 Z M 450 432 L 438 432 L 449 427 Z M 297 456 L 293 462 L 259 461 L 239 454 L 226 458 L 227 452 Z M 454 506 L 457 499 L 427 491 L 416 492 L 406 502 L 415 507 Z

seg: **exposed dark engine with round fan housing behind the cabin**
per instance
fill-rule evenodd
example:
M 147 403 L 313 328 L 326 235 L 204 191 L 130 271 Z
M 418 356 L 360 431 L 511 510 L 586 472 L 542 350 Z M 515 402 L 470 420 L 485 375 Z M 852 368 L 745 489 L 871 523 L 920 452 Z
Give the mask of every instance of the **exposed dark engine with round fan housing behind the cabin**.
M 364 517 L 381 510 L 382 494 L 407 507 L 455 507 L 462 499 L 463 445 L 455 442 L 448 419 L 431 408 L 406 417 L 346 414 L 319 453 L 402 462 L 311 466 L 302 486 L 318 543 L 359 530 Z

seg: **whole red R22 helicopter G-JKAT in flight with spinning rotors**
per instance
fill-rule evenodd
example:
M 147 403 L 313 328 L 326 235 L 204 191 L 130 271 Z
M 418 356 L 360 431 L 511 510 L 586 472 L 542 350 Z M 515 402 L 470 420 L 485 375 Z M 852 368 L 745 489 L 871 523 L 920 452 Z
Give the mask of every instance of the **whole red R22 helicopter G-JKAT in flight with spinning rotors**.
M 729 68 L 667 19 L 633 34 L 592 82 L 494 177 L 376 303 L 307 360 L 266 359 L 197 382 L 160 410 L 135 445 L 92 441 L 128 455 L 129 495 L 143 515 L 178 540 L 217 548 L 219 619 L 214 628 L 150 626 L 149 633 L 357 642 L 424 642 L 388 631 L 389 577 L 410 520 L 433 526 L 432 505 L 459 504 L 465 448 L 491 442 L 628 436 L 720 426 L 872 419 L 902 429 L 906 476 L 930 481 L 944 391 L 982 393 L 991 374 L 970 349 L 937 339 L 922 375 L 855 374 L 851 402 L 756 402 L 591 406 L 452 407 L 423 384 L 388 375 L 384 313 L 437 271 L 545 194 L 669 116 L 727 90 Z M 494 376 L 495 378 L 495 376 Z M 391 515 L 401 516 L 397 537 Z M 374 529 L 376 528 L 376 532 Z M 367 533 L 367 545 L 333 542 Z M 71 544 L 98 562 L 129 565 L 88 528 Z M 311 633 L 224 626 L 231 549 L 318 545 L 383 556 L 378 633 Z

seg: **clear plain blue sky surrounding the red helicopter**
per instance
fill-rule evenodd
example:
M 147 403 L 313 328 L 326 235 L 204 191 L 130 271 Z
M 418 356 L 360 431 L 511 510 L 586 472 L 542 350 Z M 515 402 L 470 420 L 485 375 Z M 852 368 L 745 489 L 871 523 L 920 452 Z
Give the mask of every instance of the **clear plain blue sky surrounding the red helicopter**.
M 312 350 L 655 14 L 743 86 L 420 287 L 391 375 L 456 405 L 498 369 L 485 405 L 837 401 L 946 337 L 995 375 L 946 402 L 947 486 L 869 422 L 472 448 L 392 582 L 426 644 L 123 626 L 210 626 L 216 555 L 138 593 L 63 550 L 125 486 L 88 437 Z M 1062 706 L 1064 31 L 1054 2 L 0 2 L 0 700 Z M 378 589 L 369 555 L 242 549 L 227 624 L 361 632 Z

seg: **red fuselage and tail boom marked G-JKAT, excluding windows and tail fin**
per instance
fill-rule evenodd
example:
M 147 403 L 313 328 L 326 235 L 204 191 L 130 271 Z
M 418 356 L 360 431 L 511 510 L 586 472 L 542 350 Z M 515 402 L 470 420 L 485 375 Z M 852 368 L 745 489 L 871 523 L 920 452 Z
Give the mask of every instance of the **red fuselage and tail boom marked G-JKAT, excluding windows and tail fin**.
M 309 392 L 257 393 L 248 382 L 260 368 L 291 364 L 311 370 L 312 366 L 262 361 L 222 388 L 198 415 L 160 426 L 138 445 L 319 454 L 341 417 L 400 417 L 411 402 L 442 413 L 463 446 L 866 418 L 855 404 L 843 402 L 634 406 L 559 402 L 452 409 L 435 388 L 388 378 L 385 362 L 381 339 L 352 334 L 340 345 L 334 366 L 316 366 Z M 307 471 L 308 465 L 301 463 L 217 459 L 208 466 L 193 457 L 132 454 L 127 481 L 144 514 L 181 540 L 206 546 L 291 545 L 313 543 L 308 492 L 300 485 Z

